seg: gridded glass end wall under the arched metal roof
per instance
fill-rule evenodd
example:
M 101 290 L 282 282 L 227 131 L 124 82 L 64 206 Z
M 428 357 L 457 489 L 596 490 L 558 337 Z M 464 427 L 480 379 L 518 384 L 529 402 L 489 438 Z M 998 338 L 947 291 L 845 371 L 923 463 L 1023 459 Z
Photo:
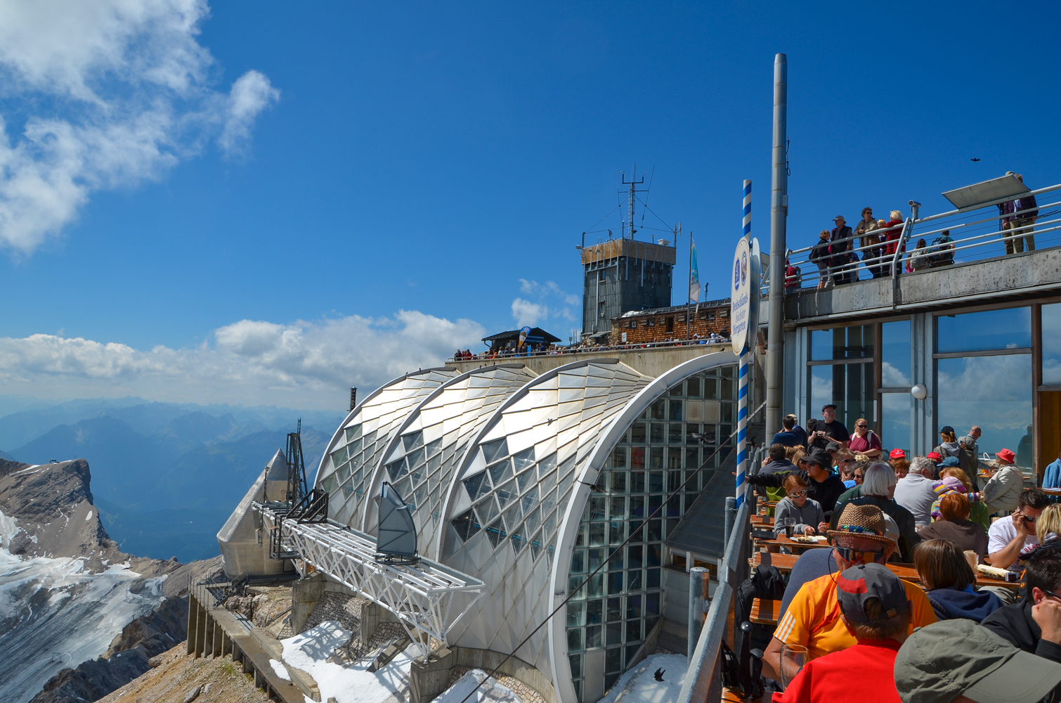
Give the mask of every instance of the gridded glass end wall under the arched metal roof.
M 663 539 L 699 495 L 703 474 L 630 544 L 618 545 L 735 429 L 736 385 L 736 364 L 676 384 L 630 425 L 601 471 L 578 527 L 568 584 L 568 593 L 574 591 L 607 560 L 607 567 L 568 603 L 568 652 L 579 703 L 585 653 L 605 650 L 608 690 L 662 616 Z M 694 433 L 706 436 L 702 446 Z M 717 468 L 721 455 L 708 466 Z

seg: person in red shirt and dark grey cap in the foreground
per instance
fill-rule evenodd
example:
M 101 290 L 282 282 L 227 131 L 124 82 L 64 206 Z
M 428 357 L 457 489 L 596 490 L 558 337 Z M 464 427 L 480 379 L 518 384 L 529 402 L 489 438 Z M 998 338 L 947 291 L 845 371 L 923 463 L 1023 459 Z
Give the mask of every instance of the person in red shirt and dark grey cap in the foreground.
M 859 564 L 836 578 L 836 599 L 858 642 L 808 662 L 784 693 L 773 695 L 775 703 L 900 703 L 895 655 L 914 610 L 902 581 L 886 566 Z M 851 685 L 853 678 L 857 686 Z

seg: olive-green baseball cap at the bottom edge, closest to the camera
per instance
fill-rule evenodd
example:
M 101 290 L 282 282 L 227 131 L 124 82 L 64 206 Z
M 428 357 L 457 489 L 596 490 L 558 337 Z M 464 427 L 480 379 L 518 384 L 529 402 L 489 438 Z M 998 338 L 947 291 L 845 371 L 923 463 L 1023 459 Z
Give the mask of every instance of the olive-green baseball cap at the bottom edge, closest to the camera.
M 972 620 L 957 619 L 907 637 L 895 656 L 894 674 L 903 703 L 1037 703 L 1058 700 L 1061 664 L 1022 651 Z

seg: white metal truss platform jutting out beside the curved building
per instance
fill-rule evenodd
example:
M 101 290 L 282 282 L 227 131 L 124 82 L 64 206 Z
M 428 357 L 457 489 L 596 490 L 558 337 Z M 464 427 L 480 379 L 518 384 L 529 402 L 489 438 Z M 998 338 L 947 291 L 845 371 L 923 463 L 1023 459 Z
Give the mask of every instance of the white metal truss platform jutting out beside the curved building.
M 390 611 L 414 642 L 424 644 L 420 649 L 424 659 L 429 638 L 448 647 L 449 628 L 486 593 L 479 579 L 429 559 L 421 558 L 415 564 L 379 562 L 373 536 L 334 520 L 301 522 L 276 508 L 254 503 L 254 510 L 262 515 L 262 527 L 276 535 L 281 551 L 298 554 L 295 566 L 302 577 L 314 569 L 323 571 Z M 466 594 L 467 602 L 451 619 L 458 594 Z

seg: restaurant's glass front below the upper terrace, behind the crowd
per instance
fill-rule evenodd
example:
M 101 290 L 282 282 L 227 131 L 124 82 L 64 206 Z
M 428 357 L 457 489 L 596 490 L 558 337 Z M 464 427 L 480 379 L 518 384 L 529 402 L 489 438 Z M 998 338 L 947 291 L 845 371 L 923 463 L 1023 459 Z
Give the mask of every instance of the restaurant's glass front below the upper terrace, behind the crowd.
M 833 404 L 849 432 L 864 417 L 887 449 L 924 455 L 941 427 L 978 426 L 981 457 L 1007 448 L 1041 473 L 1061 452 L 1061 301 L 801 328 L 794 340 L 803 373 L 785 412 L 804 427 Z

